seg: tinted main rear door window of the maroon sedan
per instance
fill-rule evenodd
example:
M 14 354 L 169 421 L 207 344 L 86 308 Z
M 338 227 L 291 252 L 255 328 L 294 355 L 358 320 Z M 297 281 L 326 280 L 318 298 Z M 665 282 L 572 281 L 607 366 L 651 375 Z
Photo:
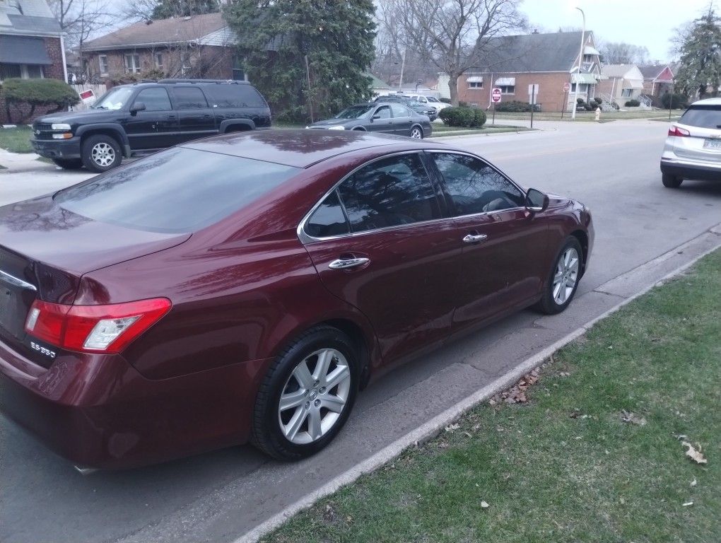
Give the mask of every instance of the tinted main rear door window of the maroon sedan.
M 343 181 L 338 194 L 353 232 L 441 217 L 419 154 L 389 156 L 368 164 Z

